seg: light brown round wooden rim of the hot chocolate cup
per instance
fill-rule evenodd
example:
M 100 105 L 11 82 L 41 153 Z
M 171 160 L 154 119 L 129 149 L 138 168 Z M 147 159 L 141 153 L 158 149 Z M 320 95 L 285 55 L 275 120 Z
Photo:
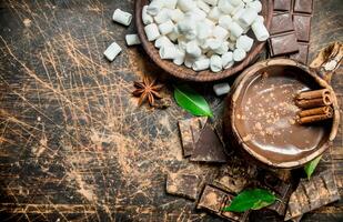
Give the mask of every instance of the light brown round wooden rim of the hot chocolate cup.
M 334 115 L 333 115 L 333 121 L 332 121 L 332 127 L 331 127 L 331 132 L 330 135 L 327 138 L 327 141 L 324 142 L 323 144 L 321 144 L 321 147 L 316 150 L 314 150 L 313 152 L 311 152 L 310 154 L 300 158 L 299 160 L 295 161 L 287 161 L 287 162 L 280 162 L 280 163 L 275 163 L 272 162 L 271 160 L 269 160 L 268 158 L 265 158 L 262 154 L 259 154 L 258 152 L 255 152 L 253 149 L 251 149 L 243 140 L 243 138 L 240 135 L 240 133 L 238 132 L 238 129 L 235 127 L 235 101 L 239 99 L 239 97 L 241 95 L 241 92 L 243 90 L 243 82 L 248 81 L 248 79 L 250 77 L 252 77 L 253 74 L 255 74 L 258 70 L 269 67 L 269 65 L 292 65 L 292 67 L 296 67 L 299 69 L 302 69 L 303 71 L 305 71 L 309 75 L 311 75 L 320 87 L 322 88 L 326 88 L 327 90 L 330 90 L 333 94 L 333 108 L 334 108 Z M 321 155 L 327 148 L 330 148 L 330 145 L 332 144 L 332 141 L 334 140 L 334 138 L 336 137 L 337 130 L 339 130 L 339 124 L 340 124 L 340 108 L 337 104 L 337 99 L 335 95 L 334 90 L 332 89 L 332 87 L 324 81 L 322 78 L 320 78 L 314 70 L 310 69 L 309 67 L 292 60 L 292 59 L 269 59 L 269 60 L 264 60 L 264 61 L 260 61 L 255 64 L 253 64 L 252 67 L 248 68 L 246 70 L 244 70 L 241 75 L 234 81 L 232 91 L 229 95 L 229 103 L 228 105 L 230 105 L 230 113 L 229 113 L 229 120 L 230 120 L 230 124 L 226 127 L 231 128 L 231 131 L 234 140 L 239 142 L 240 147 L 243 148 L 243 150 L 245 152 L 248 152 L 251 157 L 253 157 L 254 159 L 256 159 L 258 161 L 273 167 L 273 168 L 299 168 L 307 162 L 310 162 L 311 160 L 315 159 L 316 157 Z

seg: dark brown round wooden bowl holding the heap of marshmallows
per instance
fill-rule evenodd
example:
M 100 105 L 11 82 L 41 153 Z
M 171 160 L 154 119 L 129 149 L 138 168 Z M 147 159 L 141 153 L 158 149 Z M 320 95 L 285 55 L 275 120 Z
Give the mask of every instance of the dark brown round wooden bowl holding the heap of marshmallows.
M 270 28 L 272 14 L 273 14 L 273 1 L 272 0 L 262 0 L 262 12 L 261 14 L 264 17 L 264 23 L 266 29 Z M 144 24 L 142 21 L 142 8 L 149 3 L 148 0 L 137 0 L 135 1 L 135 26 L 138 29 L 138 34 L 141 39 L 142 46 L 149 57 L 165 72 L 183 79 L 188 81 L 196 81 L 196 82 L 210 82 L 215 80 L 221 80 L 233 75 L 234 73 L 243 70 L 251 62 L 254 61 L 256 56 L 262 51 L 265 42 L 255 41 L 250 52 L 246 53 L 246 58 L 241 61 L 234 63 L 234 65 L 230 69 L 226 69 L 222 72 L 214 73 L 210 70 L 204 70 L 200 72 L 195 72 L 192 69 L 186 68 L 185 65 L 176 65 L 172 61 L 162 60 L 159 54 L 159 50 L 154 47 L 153 42 L 148 41 L 147 36 L 144 33 Z

